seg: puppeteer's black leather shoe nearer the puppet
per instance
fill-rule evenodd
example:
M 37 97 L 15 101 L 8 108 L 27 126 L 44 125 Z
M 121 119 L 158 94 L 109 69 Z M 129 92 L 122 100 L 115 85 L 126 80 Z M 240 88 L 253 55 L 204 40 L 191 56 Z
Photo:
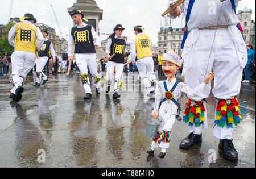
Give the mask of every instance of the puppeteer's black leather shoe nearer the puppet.
M 187 138 L 181 140 L 180 148 L 189 149 L 194 146 L 194 144 L 200 143 L 202 141 L 202 134 L 197 135 L 192 132 L 187 136 Z

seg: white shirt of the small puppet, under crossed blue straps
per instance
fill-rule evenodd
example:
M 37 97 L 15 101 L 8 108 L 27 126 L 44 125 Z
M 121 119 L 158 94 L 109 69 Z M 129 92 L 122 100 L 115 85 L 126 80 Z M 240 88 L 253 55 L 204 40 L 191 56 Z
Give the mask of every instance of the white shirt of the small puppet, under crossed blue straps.
M 166 80 L 166 85 L 168 90 L 171 90 L 176 82 L 176 78 L 172 79 L 171 81 Z M 181 97 L 182 93 L 186 93 L 188 97 L 195 97 L 200 93 L 201 90 L 203 90 L 205 87 L 204 82 L 202 82 L 200 85 L 198 85 L 195 89 L 189 88 L 189 86 L 185 85 L 183 82 L 179 82 L 179 84 L 176 86 L 173 93 L 173 98 L 178 101 L 178 99 Z M 164 88 L 163 81 L 159 81 L 156 85 L 156 93 L 155 93 L 155 104 L 154 109 L 158 110 L 160 102 L 165 97 L 166 89 Z M 159 115 L 162 119 L 166 120 L 170 118 L 171 115 L 177 114 L 177 105 L 172 102 L 171 100 L 166 100 L 162 103 L 160 109 L 159 109 Z

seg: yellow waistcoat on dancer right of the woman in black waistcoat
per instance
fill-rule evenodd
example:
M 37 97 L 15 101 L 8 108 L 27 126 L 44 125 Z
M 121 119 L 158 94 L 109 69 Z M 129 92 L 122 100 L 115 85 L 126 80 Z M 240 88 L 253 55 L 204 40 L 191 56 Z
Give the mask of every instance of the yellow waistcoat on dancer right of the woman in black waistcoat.
M 139 34 L 135 36 L 135 47 L 137 53 L 137 59 L 142 59 L 143 57 L 152 56 L 152 49 L 150 39 L 144 34 Z

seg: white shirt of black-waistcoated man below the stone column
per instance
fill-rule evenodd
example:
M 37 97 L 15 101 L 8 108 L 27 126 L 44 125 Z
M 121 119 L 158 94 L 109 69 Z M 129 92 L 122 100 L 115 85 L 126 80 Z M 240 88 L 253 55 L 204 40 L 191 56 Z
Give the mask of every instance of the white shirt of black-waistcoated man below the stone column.
M 75 27 L 77 28 L 84 28 L 86 27 L 87 24 L 86 23 L 82 23 L 81 26 L 77 26 L 77 24 L 75 25 Z M 72 30 L 72 28 L 71 28 Z M 69 30 L 69 37 L 68 37 L 68 56 L 71 57 L 72 53 L 73 53 L 73 43 L 74 43 L 74 39 L 73 36 L 71 34 L 71 30 Z M 94 45 L 98 45 L 99 47 L 101 47 L 101 39 L 100 37 L 97 35 L 97 33 L 95 32 L 94 28 L 92 27 L 92 36 L 93 36 L 93 42 Z

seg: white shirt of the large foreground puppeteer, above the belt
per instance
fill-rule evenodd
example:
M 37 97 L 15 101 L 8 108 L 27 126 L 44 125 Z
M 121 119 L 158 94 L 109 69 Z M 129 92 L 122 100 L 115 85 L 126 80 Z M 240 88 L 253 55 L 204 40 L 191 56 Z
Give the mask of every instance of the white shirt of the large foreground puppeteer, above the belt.
M 236 7 L 238 0 L 234 0 Z M 189 0 L 185 0 L 179 7 L 187 15 Z M 196 0 L 188 20 L 188 31 L 192 28 L 204 28 L 217 25 L 237 25 L 238 16 L 234 13 L 230 0 L 224 1 L 222 10 L 220 0 Z M 221 14 L 220 14 L 221 13 Z M 220 20 L 218 22 L 218 17 Z

